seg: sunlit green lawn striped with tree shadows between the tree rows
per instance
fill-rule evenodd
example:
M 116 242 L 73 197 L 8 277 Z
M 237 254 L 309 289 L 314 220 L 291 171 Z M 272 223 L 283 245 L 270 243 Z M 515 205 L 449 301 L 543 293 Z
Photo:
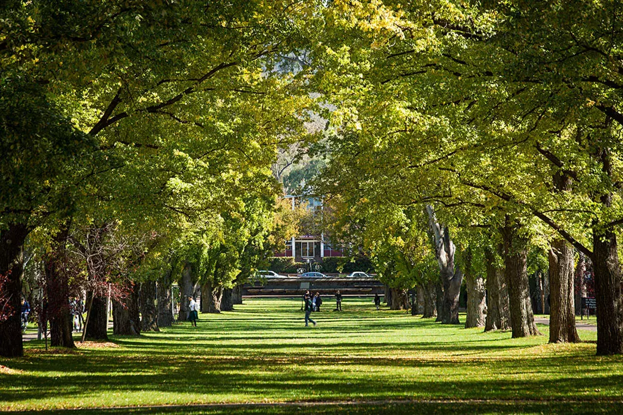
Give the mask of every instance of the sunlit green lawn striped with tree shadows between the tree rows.
M 110 413 L 621 413 L 623 356 L 330 302 L 304 327 L 298 299 L 248 299 L 107 347 L 25 343 L 0 360 L 0 409 Z M 464 316 L 462 316 L 464 320 Z M 259 405 L 259 404 L 262 405 Z M 282 403 L 282 404 L 274 404 Z M 239 404 L 237 406 L 206 406 Z M 177 405 L 177 406 L 176 406 Z M 191 406 L 198 405 L 198 406 Z M 102 409 L 93 413 L 102 413 Z

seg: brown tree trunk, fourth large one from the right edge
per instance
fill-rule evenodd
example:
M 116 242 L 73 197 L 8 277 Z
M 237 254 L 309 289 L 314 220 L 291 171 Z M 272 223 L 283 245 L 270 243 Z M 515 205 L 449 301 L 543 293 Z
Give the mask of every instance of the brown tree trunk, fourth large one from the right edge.
M 508 310 L 508 290 L 504 270 L 496 265 L 495 254 L 485 249 L 487 261 L 487 318 L 485 332 L 490 330 L 510 329 L 510 313 Z

